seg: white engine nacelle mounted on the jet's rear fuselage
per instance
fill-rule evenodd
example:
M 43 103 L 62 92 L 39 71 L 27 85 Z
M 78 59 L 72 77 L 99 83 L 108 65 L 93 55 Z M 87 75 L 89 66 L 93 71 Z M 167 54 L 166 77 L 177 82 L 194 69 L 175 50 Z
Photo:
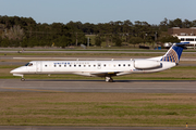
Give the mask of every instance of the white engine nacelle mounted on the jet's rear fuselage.
M 152 61 L 152 60 L 138 60 L 135 61 L 134 66 L 137 69 L 150 69 L 150 68 L 160 67 L 161 63 L 159 61 Z

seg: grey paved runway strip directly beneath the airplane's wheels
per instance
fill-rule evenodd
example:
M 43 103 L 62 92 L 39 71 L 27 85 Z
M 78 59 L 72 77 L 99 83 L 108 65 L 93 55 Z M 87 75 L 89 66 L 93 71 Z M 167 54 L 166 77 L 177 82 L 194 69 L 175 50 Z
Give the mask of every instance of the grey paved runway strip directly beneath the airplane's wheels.
M 196 93 L 196 80 L 33 80 L 0 79 L 1 92 Z

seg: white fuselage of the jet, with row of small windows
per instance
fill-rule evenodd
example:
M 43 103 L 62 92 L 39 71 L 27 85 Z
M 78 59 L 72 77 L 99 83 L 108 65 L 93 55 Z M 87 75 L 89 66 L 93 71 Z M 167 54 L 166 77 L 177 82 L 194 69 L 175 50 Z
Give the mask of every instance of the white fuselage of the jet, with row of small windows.
M 27 74 L 76 74 L 106 77 L 133 73 L 156 73 L 175 66 L 172 62 L 154 60 L 134 61 L 33 61 L 11 73 L 15 76 Z

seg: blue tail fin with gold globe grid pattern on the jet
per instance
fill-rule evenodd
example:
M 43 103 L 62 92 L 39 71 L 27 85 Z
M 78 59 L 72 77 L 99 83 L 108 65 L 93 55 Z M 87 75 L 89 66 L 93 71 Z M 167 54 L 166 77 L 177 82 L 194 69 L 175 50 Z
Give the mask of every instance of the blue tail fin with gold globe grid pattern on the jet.
M 185 44 L 189 42 L 181 42 L 173 44 L 160 61 L 179 63 Z

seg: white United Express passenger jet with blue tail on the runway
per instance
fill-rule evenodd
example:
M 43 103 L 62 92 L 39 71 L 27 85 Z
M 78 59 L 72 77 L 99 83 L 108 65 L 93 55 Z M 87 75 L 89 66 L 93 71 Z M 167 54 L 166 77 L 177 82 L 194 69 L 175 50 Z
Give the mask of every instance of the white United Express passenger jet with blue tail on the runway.
M 163 56 L 136 58 L 127 61 L 32 61 L 25 66 L 10 73 L 13 76 L 29 74 L 75 74 L 90 77 L 105 77 L 107 82 L 113 82 L 112 77 L 128 74 L 147 74 L 169 69 L 179 64 L 183 49 L 189 42 L 174 43 Z

